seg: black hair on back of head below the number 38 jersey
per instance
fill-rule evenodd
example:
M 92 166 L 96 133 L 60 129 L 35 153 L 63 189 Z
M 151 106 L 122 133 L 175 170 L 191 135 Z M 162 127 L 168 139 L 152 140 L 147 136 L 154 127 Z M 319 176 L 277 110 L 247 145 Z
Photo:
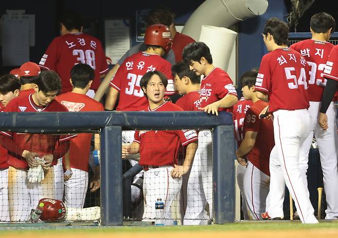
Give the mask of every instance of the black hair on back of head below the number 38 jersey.
M 76 64 L 70 70 L 73 87 L 85 88 L 90 80 L 94 80 L 95 71 L 87 64 Z

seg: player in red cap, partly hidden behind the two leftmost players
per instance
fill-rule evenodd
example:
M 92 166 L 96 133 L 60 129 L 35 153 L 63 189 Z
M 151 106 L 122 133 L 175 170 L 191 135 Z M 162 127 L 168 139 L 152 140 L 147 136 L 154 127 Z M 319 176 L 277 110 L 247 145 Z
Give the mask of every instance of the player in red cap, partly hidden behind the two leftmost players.
M 26 62 L 20 66 L 18 78 L 21 81 L 20 96 L 28 96 L 34 94 L 38 88 L 35 84 L 37 76 L 41 70 L 39 65 L 33 62 Z

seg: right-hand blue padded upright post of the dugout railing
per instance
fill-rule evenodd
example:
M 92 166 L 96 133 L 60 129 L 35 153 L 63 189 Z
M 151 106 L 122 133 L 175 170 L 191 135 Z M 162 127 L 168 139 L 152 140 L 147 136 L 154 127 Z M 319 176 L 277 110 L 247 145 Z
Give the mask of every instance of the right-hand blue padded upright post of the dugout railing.
M 214 129 L 214 223 L 235 221 L 235 143 L 232 125 Z

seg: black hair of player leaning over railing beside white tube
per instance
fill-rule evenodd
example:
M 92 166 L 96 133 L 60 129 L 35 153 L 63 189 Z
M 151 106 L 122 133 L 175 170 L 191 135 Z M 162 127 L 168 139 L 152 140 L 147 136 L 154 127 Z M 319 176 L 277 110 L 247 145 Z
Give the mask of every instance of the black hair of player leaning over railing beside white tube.
M 209 64 L 213 63 L 210 49 L 204 42 L 192 42 L 184 47 L 182 58 L 185 63 L 191 65 L 192 60 L 200 62 L 201 57 L 204 57 Z

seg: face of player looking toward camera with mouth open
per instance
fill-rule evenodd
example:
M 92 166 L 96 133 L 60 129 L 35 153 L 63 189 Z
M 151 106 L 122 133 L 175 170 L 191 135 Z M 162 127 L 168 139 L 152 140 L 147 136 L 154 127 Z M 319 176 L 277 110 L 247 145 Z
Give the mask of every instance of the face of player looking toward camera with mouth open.
M 158 75 L 153 75 L 147 84 L 145 93 L 149 104 L 161 104 L 164 102 L 165 87 Z

